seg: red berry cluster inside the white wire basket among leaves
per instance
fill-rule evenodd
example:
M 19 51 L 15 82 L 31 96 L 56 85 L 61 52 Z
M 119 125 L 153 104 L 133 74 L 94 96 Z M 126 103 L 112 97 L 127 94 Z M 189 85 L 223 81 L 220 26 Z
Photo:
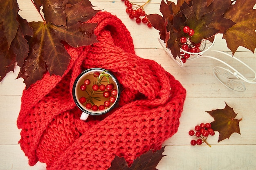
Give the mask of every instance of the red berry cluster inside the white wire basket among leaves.
M 184 51 L 188 51 L 190 53 L 199 53 L 200 52 L 200 46 L 201 42 L 195 44 L 191 42 L 191 37 L 194 35 L 195 31 L 193 29 L 190 29 L 189 26 L 183 27 L 184 36 L 180 38 L 181 42 L 181 49 Z M 180 52 L 181 60 L 183 63 L 186 62 L 186 60 L 190 57 L 189 53 L 185 53 L 184 51 Z

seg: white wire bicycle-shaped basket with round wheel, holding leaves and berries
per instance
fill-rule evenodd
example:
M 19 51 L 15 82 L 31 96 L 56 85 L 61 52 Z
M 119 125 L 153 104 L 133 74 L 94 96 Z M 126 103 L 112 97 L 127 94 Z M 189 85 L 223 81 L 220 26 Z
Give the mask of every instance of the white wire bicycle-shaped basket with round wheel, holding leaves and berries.
M 159 40 L 160 44 L 162 45 L 162 47 L 164 48 L 164 50 L 166 51 L 166 53 L 168 54 L 168 56 L 171 57 L 178 65 L 184 66 L 184 63 L 182 62 L 180 57 L 178 57 L 178 56 L 173 57 L 170 49 L 168 49 L 166 47 L 164 41 L 161 40 L 160 38 L 158 38 L 158 40 Z M 213 67 L 213 75 L 216 77 L 216 79 L 218 79 L 218 81 L 221 84 L 223 84 L 224 86 L 226 86 L 230 90 L 243 92 L 243 91 L 246 90 L 244 82 L 249 83 L 249 84 L 256 84 L 256 72 L 250 66 L 248 66 L 247 64 L 245 64 L 244 62 L 242 62 L 238 58 L 236 58 L 236 57 L 234 57 L 234 56 L 232 56 L 228 53 L 225 53 L 223 51 L 210 50 L 211 47 L 213 46 L 213 44 L 215 43 L 215 41 L 216 41 L 216 36 L 214 37 L 214 40 L 213 40 L 212 43 L 209 42 L 208 40 L 204 41 L 204 44 L 202 44 L 199 53 L 191 53 L 191 52 L 188 52 L 188 51 L 184 51 L 183 49 L 180 49 L 180 51 L 181 51 L 181 53 L 188 53 L 188 54 L 191 55 L 191 57 L 189 57 L 187 59 L 187 61 L 194 60 L 194 59 L 199 58 L 199 57 L 207 57 L 207 58 L 211 58 L 213 60 L 217 60 L 218 62 L 224 64 L 225 67 L 222 67 L 222 66 Z M 232 57 L 232 59 L 236 60 L 237 62 L 240 62 L 240 64 L 247 67 L 248 71 L 251 72 L 252 76 L 245 77 L 237 69 L 235 69 L 231 65 L 227 64 L 226 62 L 220 60 L 219 58 L 212 57 L 212 56 L 209 56 L 209 55 L 203 55 L 207 51 L 214 51 L 214 52 L 221 53 L 223 55 L 227 55 L 229 57 Z

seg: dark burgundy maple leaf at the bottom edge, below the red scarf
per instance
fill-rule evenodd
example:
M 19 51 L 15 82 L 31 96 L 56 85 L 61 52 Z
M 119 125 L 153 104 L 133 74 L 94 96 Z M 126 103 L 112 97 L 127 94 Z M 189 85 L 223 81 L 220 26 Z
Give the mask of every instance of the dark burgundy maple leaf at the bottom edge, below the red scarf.
M 115 159 L 111 162 L 111 166 L 108 170 L 157 170 L 157 164 L 162 157 L 165 156 L 162 155 L 164 148 L 165 147 L 162 147 L 162 149 L 157 150 L 156 152 L 149 150 L 140 157 L 137 157 L 130 167 L 128 167 L 124 157 L 115 156 Z

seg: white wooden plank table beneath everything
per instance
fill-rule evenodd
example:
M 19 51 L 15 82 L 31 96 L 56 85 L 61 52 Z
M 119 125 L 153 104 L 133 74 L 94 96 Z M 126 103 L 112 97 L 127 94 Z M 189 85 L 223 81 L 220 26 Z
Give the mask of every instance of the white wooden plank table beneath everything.
M 145 0 L 136 0 L 143 2 Z M 213 66 L 219 65 L 215 60 L 199 58 L 189 61 L 184 67 L 178 66 L 171 60 L 157 41 L 158 31 L 148 29 L 144 24 L 131 21 L 125 12 L 121 0 L 93 0 L 97 9 L 103 9 L 117 15 L 130 31 L 138 56 L 155 60 L 166 71 L 170 72 L 186 88 L 187 96 L 184 111 L 180 118 L 178 132 L 164 142 L 166 145 L 163 159 L 158 164 L 159 170 L 256 170 L 256 85 L 245 84 L 245 92 L 231 91 L 213 76 Z M 135 1 L 134 1 L 135 2 Z M 151 0 L 145 7 L 146 13 L 159 13 L 160 0 Z M 40 21 L 30 0 L 18 0 L 20 15 L 30 21 Z M 215 50 L 229 51 L 225 40 L 217 37 Z M 210 53 L 211 55 L 211 53 Z M 256 69 L 256 55 L 244 48 L 239 48 L 235 54 L 243 62 Z M 219 56 L 221 57 L 221 54 Z M 223 58 L 229 63 L 233 60 Z M 230 60 L 230 61 L 229 61 Z M 241 72 L 247 70 L 234 63 Z M 20 110 L 20 98 L 25 88 L 23 79 L 16 79 L 18 72 L 10 72 L 0 82 L 0 170 L 45 170 L 44 163 L 35 166 L 28 165 L 27 157 L 20 149 L 18 141 L 20 130 L 16 120 Z M 195 125 L 201 122 L 211 122 L 213 118 L 205 111 L 224 108 L 225 102 L 238 113 L 240 121 L 239 134 L 231 135 L 230 139 L 218 141 L 218 132 L 208 138 L 212 145 L 191 146 L 191 136 L 188 135 Z

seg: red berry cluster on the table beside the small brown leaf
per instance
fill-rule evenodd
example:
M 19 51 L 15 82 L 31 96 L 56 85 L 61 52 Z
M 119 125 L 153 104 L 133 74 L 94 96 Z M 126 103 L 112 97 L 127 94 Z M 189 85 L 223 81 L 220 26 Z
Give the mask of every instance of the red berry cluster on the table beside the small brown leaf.
M 213 136 L 215 135 L 214 130 L 211 128 L 211 124 L 210 123 L 201 123 L 200 125 L 195 126 L 195 131 L 194 130 L 189 130 L 189 135 L 190 136 L 196 136 L 198 137 L 197 140 L 193 139 L 191 140 L 190 144 L 191 145 L 201 145 L 202 143 L 206 143 L 208 146 L 211 147 L 211 145 L 209 145 L 207 143 L 207 138 L 209 135 Z

